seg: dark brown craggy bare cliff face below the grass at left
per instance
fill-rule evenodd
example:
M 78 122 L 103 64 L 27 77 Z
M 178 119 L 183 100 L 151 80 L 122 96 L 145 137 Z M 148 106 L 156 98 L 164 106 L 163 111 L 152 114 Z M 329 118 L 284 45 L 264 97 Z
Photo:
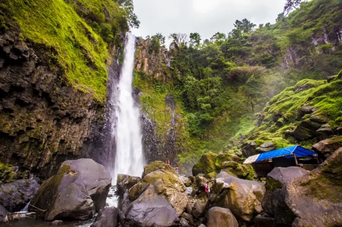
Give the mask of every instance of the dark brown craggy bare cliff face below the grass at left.
M 0 36 L 0 162 L 42 176 L 90 155 L 103 111 L 90 92 L 64 83 L 53 54 L 17 33 Z

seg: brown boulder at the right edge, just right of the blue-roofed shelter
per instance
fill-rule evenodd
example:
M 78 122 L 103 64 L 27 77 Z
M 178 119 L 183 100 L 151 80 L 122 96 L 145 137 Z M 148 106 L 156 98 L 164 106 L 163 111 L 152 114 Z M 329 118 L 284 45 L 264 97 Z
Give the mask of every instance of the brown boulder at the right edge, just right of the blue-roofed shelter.
M 318 153 L 321 159 L 328 158 L 336 149 L 342 146 L 342 136 L 336 136 L 330 139 L 322 140 L 312 146 L 312 149 Z

